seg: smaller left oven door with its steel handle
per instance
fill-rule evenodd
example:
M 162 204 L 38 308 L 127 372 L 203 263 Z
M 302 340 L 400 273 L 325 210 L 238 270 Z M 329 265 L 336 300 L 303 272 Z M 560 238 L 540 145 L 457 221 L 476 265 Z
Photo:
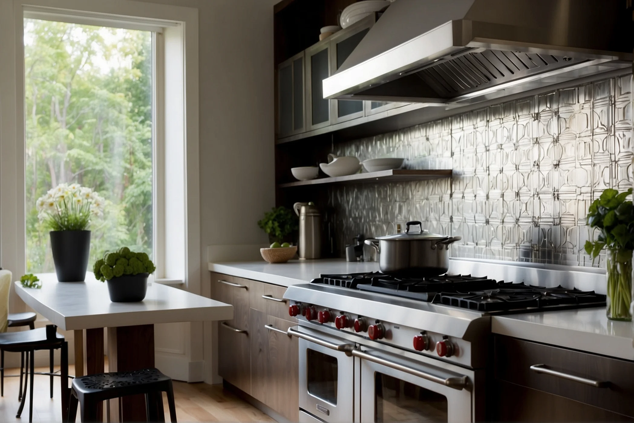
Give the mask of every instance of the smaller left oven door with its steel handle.
M 354 420 L 354 344 L 306 327 L 288 330 L 299 338 L 299 408 L 326 422 Z M 300 420 L 313 422 L 314 419 Z

